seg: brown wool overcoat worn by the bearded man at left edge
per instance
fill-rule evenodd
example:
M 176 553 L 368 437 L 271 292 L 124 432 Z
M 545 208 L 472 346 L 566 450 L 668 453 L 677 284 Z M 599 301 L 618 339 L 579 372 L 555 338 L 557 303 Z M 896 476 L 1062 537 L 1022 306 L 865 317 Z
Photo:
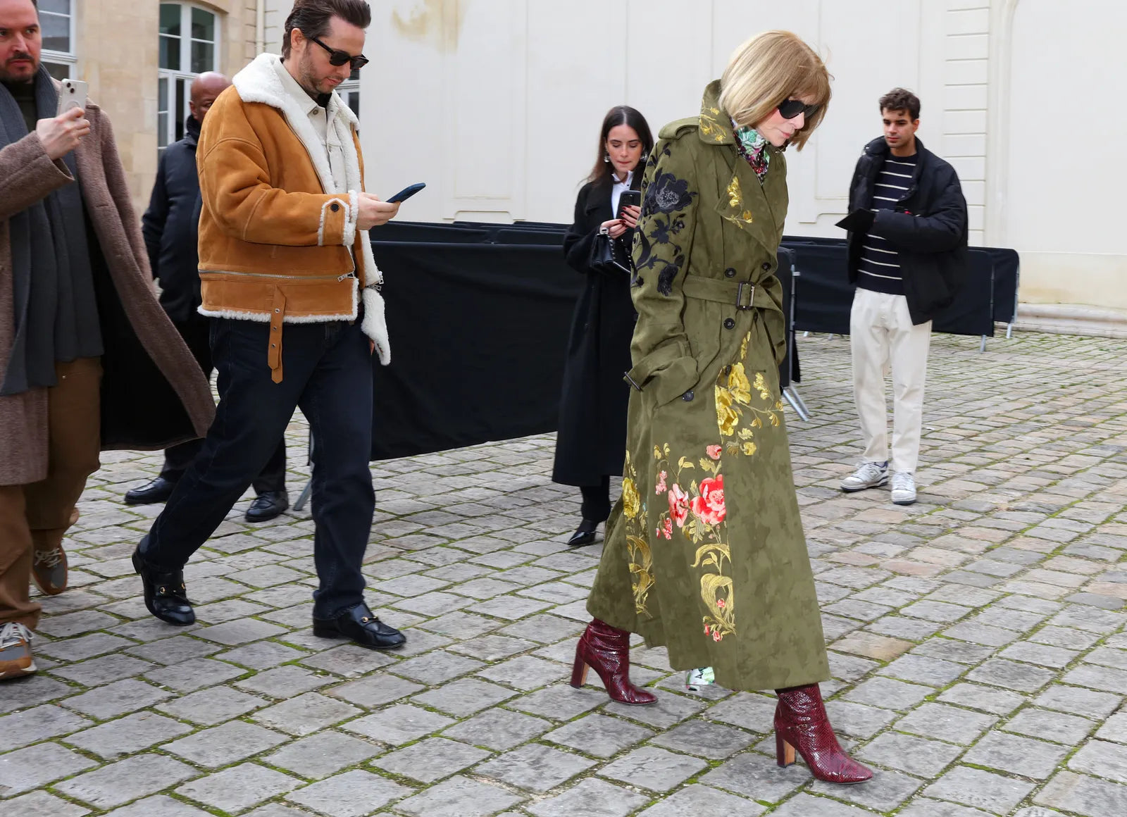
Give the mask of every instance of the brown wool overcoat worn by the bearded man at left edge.
M 74 151 L 94 227 L 103 356 L 101 449 L 159 450 L 207 433 L 214 401 L 199 365 L 157 302 L 141 228 L 109 119 L 94 104 Z M 15 335 L 8 220 L 73 178 L 34 133 L 0 150 L 0 381 Z M 100 270 L 100 272 L 99 272 Z M 47 390 L 0 397 L 0 485 L 47 476 Z

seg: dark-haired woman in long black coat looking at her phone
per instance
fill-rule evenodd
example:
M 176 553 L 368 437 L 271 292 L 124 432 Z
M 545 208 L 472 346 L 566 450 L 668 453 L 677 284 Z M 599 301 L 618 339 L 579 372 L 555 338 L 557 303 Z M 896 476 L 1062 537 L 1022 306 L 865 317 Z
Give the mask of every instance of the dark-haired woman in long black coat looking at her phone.
M 583 494 L 583 519 L 568 542 L 571 547 L 594 543 L 598 523 L 611 513 L 611 477 L 622 474 L 630 398 L 623 374 L 632 365 L 630 338 L 637 317 L 629 273 L 593 269 L 591 254 L 604 232 L 619 245 L 619 257 L 630 258 L 640 208 L 620 208 L 619 199 L 624 190 L 639 188 L 653 146 L 640 113 L 624 105 L 611 108 L 600 132 L 595 167 L 579 190 L 575 221 L 564 238 L 567 263 L 587 278 L 568 338 L 552 470 L 552 481 L 578 486 Z

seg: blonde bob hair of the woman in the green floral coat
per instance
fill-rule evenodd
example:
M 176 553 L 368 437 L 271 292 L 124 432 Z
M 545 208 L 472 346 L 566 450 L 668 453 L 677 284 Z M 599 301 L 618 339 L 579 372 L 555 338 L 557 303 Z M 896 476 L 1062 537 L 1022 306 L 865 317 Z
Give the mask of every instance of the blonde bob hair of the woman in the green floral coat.
M 822 57 L 790 32 L 763 32 L 740 45 L 720 78 L 720 107 L 740 127 L 760 124 L 787 99 L 806 99 L 818 109 L 790 140 L 802 150 L 829 105 L 829 80 Z

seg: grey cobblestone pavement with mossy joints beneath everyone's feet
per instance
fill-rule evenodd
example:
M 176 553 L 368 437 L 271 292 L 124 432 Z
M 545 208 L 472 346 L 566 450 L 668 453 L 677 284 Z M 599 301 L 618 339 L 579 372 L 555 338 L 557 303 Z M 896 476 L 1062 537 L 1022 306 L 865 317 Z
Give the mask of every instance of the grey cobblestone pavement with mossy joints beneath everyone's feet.
M 42 672 L 0 684 L 0 812 L 1127 814 L 1127 341 L 937 337 L 907 508 L 836 489 L 859 451 L 849 346 L 801 350 L 823 690 L 870 783 L 778 769 L 771 693 L 690 693 L 663 649 L 632 656 L 654 707 L 567 685 L 598 550 L 562 543 L 578 497 L 543 436 L 375 463 L 369 597 L 408 631 L 396 655 L 311 634 L 308 510 L 251 526 L 240 504 L 188 566 L 199 623 L 150 618 L 128 557 L 158 508 L 121 499 L 159 459 L 107 455 Z

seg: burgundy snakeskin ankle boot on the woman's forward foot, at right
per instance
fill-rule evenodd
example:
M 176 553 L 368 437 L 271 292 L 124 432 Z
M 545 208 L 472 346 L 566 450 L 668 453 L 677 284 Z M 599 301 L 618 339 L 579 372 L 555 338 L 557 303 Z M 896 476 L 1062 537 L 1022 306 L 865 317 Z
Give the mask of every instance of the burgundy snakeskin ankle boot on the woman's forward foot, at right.
M 817 684 L 775 690 L 775 756 L 780 766 L 795 762 L 795 751 L 818 780 L 827 783 L 863 783 L 872 772 L 846 755 L 826 717 Z

